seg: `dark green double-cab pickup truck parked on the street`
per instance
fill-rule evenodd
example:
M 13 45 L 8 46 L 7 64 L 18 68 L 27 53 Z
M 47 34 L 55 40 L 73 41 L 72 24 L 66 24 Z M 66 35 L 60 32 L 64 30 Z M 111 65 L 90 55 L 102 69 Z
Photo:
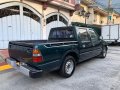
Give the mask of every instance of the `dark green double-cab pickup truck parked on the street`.
M 77 63 L 96 56 L 105 58 L 107 49 L 92 28 L 57 27 L 51 29 L 48 40 L 9 42 L 6 62 L 31 78 L 50 71 L 59 71 L 68 78 Z

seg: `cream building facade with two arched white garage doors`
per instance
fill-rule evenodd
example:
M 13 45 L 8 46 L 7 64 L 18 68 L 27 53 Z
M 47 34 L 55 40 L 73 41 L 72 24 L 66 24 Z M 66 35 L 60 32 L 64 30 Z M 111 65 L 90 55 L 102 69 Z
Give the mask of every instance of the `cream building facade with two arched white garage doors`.
M 9 41 L 48 39 L 53 27 L 71 24 L 75 0 L 1 0 L 0 49 Z

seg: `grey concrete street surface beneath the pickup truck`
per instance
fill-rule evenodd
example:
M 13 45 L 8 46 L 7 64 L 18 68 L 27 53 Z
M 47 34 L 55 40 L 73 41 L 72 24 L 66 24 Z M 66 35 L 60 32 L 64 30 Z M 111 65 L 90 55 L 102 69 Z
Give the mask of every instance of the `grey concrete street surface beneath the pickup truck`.
M 0 90 L 120 90 L 120 46 L 110 46 L 105 59 L 77 65 L 70 78 L 56 72 L 31 79 L 16 70 L 0 72 Z

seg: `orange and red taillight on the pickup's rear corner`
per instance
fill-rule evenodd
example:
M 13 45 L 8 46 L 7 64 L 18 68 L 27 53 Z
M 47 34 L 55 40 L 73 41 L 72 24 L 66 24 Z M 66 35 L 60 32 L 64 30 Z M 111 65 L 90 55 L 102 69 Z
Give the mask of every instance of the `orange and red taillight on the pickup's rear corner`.
M 34 63 L 39 63 L 43 61 L 43 57 L 42 54 L 40 52 L 40 50 L 38 49 L 34 49 L 33 50 L 33 62 Z

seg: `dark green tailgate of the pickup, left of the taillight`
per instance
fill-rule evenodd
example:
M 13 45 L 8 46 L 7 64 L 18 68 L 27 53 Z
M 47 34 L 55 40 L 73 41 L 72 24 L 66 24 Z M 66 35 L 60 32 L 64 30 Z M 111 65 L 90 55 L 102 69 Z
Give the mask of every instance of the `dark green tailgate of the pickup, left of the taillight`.
M 10 58 L 13 58 L 18 62 L 30 63 L 32 61 L 32 50 L 33 45 L 27 43 L 9 43 Z

